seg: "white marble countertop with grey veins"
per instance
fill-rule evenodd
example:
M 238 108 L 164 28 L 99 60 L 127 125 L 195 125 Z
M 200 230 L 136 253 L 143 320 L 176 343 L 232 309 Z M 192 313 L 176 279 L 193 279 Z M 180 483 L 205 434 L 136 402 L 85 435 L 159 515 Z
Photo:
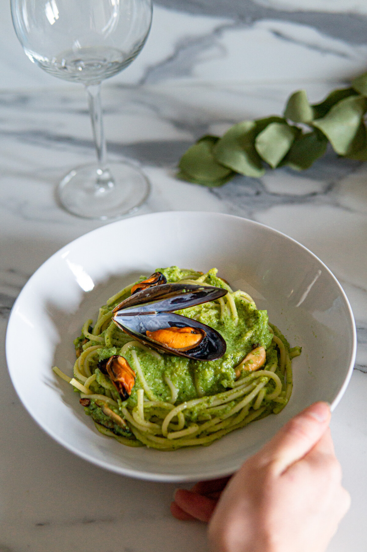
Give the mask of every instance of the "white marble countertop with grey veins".
M 283 168 L 213 189 L 176 180 L 175 166 L 204 133 L 279 114 L 298 88 L 319 100 L 361 72 L 367 10 L 357 0 L 353 13 L 347 0 L 334 0 L 333 11 L 326 0 L 322 13 L 313 0 L 308 10 L 301 0 L 233 1 L 230 12 L 228 3 L 212 4 L 186 0 L 177 12 L 174 2 L 160 2 L 136 65 L 103 87 L 109 156 L 138 161 L 150 178 L 152 194 L 138 214 L 249 217 L 303 243 L 341 282 L 359 343 L 331 427 L 352 507 L 328 552 L 364 552 L 367 166 L 329 151 L 303 173 Z M 173 485 L 118 476 L 67 452 L 36 426 L 10 383 L 3 338 L 19 291 L 52 253 L 102 223 L 69 215 L 55 200 L 64 174 L 94 160 L 84 90 L 23 59 L 6 17 L 0 17 L 0 43 L 10 52 L 0 59 L 0 552 L 205 552 L 205 527 L 170 516 Z M 239 56 L 238 45 L 248 52 L 253 41 L 260 45 L 255 53 Z

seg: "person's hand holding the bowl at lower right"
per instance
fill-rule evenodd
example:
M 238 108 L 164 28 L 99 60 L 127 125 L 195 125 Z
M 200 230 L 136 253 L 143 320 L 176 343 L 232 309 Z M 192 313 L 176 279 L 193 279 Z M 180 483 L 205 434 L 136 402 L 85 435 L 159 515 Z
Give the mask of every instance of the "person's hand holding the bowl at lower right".
M 186 519 L 202 521 L 214 511 L 209 540 L 215 552 L 323 552 L 350 503 L 329 421 L 325 403 L 306 408 L 241 466 L 217 507 L 206 492 L 211 482 L 177 491 L 176 507 L 190 514 Z M 215 485 L 219 492 L 220 482 Z M 172 507 L 172 513 L 180 512 Z

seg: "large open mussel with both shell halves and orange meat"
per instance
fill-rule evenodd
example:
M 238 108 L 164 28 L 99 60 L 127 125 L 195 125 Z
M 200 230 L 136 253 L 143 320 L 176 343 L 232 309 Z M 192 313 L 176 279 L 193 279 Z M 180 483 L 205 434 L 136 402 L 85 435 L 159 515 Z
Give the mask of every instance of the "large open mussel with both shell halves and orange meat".
M 214 301 L 226 293 L 222 288 L 193 284 L 149 286 L 117 305 L 112 320 L 137 341 L 162 353 L 215 360 L 226 351 L 220 333 L 172 311 Z

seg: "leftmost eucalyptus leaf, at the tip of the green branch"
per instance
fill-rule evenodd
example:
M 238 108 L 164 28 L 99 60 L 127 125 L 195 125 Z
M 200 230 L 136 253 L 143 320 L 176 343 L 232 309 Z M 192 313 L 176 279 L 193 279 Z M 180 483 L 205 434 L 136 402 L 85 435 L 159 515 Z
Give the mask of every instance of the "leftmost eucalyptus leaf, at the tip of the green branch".
M 203 136 L 181 157 L 179 168 L 182 174 L 190 177 L 190 182 L 211 185 L 233 176 L 233 171 L 219 164 L 213 156 L 218 140 L 218 136 Z

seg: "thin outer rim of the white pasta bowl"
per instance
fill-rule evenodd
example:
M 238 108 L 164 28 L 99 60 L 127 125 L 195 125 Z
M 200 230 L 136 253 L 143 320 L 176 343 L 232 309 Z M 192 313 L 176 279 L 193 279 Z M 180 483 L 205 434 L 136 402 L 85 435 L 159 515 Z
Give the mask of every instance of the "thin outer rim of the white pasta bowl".
M 115 226 L 118 226 L 118 225 L 128 224 L 128 221 L 133 220 L 133 219 L 141 219 L 142 217 L 144 217 L 145 219 L 149 219 L 149 218 L 159 219 L 160 217 L 172 216 L 172 215 L 174 215 L 174 216 L 197 216 L 197 217 L 200 217 L 201 219 L 203 217 L 206 217 L 206 216 L 207 217 L 219 217 L 220 219 L 226 219 L 226 220 L 231 219 L 231 220 L 245 221 L 246 224 L 261 227 L 262 229 L 265 229 L 267 231 L 270 231 L 271 233 L 275 233 L 278 236 L 281 236 L 282 238 L 285 238 L 285 240 L 289 240 L 290 242 L 293 242 L 296 246 L 300 247 L 305 252 L 310 254 L 310 256 L 313 257 L 318 263 L 320 263 L 322 268 L 325 269 L 326 272 L 331 276 L 331 278 L 334 280 L 334 283 L 337 285 L 337 289 L 339 291 L 339 294 L 341 295 L 342 299 L 344 300 L 344 304 L 347 306 L 347 311 L 348 311 L 348 314 L 349 314 L 349 322 L 350 322 L 350 325 L 352 326 L 352 351 L 351 351 L 351 355 L 350 355 L 349 367 L 348 367 L 348 370 L 347 370 L 346 378 L 344 379 L 343 385 L 341 386 L 341 389 L 339 390 L 339 392 L 338 392 L 337 396 L 335 397 L 335 399 L 333 400 L 333 402 L 330 404 L 330 410 L 331 410 L 331 412 L 333 412 L 333 410 L 337 407 L 340 400 L 342 399 L 342 396 L 344 395 L 344 392 L 346 391 L 347 386 L 349 384 L 350 378 L 352 377 L 354 364 L 355 364 L 355 357 L 356 357 L 356 354 L 357 354 L 357 331 L 356 331 L 356 328 L 355 328 L 355 320 L 354 320 L 354 316 L 353 316 L 353 311 L 352 311 L 352 307 L 350 306 L 347 295 L 346 295 L 345 291 L 343 290 L 341 284 L 338 282 L 338 279 L 334 276 L 334 274 L 326 266 L 326 264 L 323 263 L 321 261 L 321 259 L 316 256 L 315 253 L 312 253 L 312 251 L 310 251 L 307 247 L 302 245 L 300 242 L 296 241 L 294 238 L 288 236 L 284 232 L 280 232 L 279 230 L 276 230 L 276 229 L 272 228 L 271 226 L 267 226 L 265 224 L 262 224 L 261 222 L 257 222 L 257 221 L 251 220 L 251 219 L 247 219 L 246 217 L 241 217 L 241 216 L 237 216 L 237 215 L 230 215 L 230 214 L 226 214 L 226 213 L 216 213 L 216 212 L 213 212 L 213 211 L 158 211 L 158 212 L 155 212 L 155 213 L 148 213 L 148 214 L 142 214 L 142 215 L 137 215 L 137 216 L 125 217 L 123 219 L 119 219 L 119 220 L 110 222 L 109 224 L 99 226 L 98 228 L 96 228 L 94 230 L 91 230 L 89 232 L 84 233 L 81 236 L 79 236 L 79 237 L 75 238 L 74 240 L 72 240 L 71 242 L 68 242 L 66 245 L 61 247 L 58 251 L 53 253 L 51 255 L 51 257 L 48 257 L 48 259 L 46 259 L 46 261 L 44 263 L 42 263 L 41 266 L 39 268 L 37 268 L 35 270 L 35 272 L 31 275 L 29 280 L 26 282 L 26 284 L 21 289 L 17 299 L 15 300 L 15 302 L 13 304 L 12 309 L 10 310 L 8 323 L 7 323 L 7 330 L 6 330 L 6 339 L 5 339 L 5 351 L 6 351 L 7 368 L 8 368 L 8 373 L 9 373 L 9 376 L 10 376 L 10 380 L 12 381 L 15 392 L 17 392 L 17 395 L 18 395 L 18 398 L 19 398 L 21 404 L 23 405 L 25 410 L 29 413 L 31 418 L 33 418 L 33 420 L 37 423 L 37 425 L 48 436 L 50 436 L 58 444 L 62 445 L 64 448 L 66 448 L 70 452 L 77 455 L 79 458 L 87 460 L 91 464 L 99 466 L 100 468 L 104 468 L 106 470 L 112 471 L 113 473 L 117 473 L 117 474 L 120 474 L 120 475 L 125 475 L 125 476 L 128 476 L 128 477 L 133 477 L 135 479 L 146 480 L 146 481 L 190 482 L 190 481 L 198 481 L 200 479 L 205 479 L 205 478 L 206 479 L 216 479 L 218 477 L 225 477 L 225 476 L 231 475 L 232 471 L 225 471 L 225 470 L 219 470 L 217 472 L 213 471 L 213 473 L 211 474 L 210 477 L 208 477 L 207 475 L 206 476 L 201 476 L 200 474 L 197 474 L 195 476 L 174 475 L 174 474 L 156 474 L 156 473 L 151 473 L 151 472 L 147 472 L 147 471 L 133 470 L 133 469 L 130 469 L 130 468 L 123 468 L 121 466 L 114 466 L 110 463 L 107 463 L 107 462 L 104 462 L 102 460 L 98 460 L 98 459 L 95 459 L 94 457 L 91 457 L 89 454 L 84 453 L 82 450 L 79 450 L 79 449 L 75 448 L 73 445 L 65 442 L 63 440 L 63 438 L 59 437 L 58 434 L 55 431 L 50 431 L 50 429 L 48 429 L 44 426 L 44 423 L 42 423 L 42 420 L 37 415 L 35 415 L 32 412 L 31 407 L 26 404 L 26 400 L 23 400 L 23 397 L 21 396 L 21 392 L 18 390 L 17 385 L 16 385 L 16 383 L 13 379 L 12 370 L 9 367 L 10 363 L 9 363 L 8 359 L 11 356 L 10 355 L 10 339 L 11 339 L 12 332 L 13 332 L 12 327 L 13 327 L 13 323 L 14 323 L 13 322 L 14 311 L 15 311 L 15 309 L 17 309 L 18 305 L 23 300 L 23 296 L 26 295 L 26 293 L 28 293 L 28 288 L 33 283 L 33 280 L 35 280 L 38 277 L 39 272 L 42 270 L 42 268 L 46 264 L 52 263 L 53 259 L 58 257 L 58 256 L 61 257 L 62 253 L 65 250 L 67 250 L 67 248 L 69 248 L 71 246 L 74 246 L 79 240 L 80 241 L 84 240 L 86 236 L 93 236 L 94 233 L 98 233 L 101 230 L 105 229 L 106 227 L 115 227 Z

